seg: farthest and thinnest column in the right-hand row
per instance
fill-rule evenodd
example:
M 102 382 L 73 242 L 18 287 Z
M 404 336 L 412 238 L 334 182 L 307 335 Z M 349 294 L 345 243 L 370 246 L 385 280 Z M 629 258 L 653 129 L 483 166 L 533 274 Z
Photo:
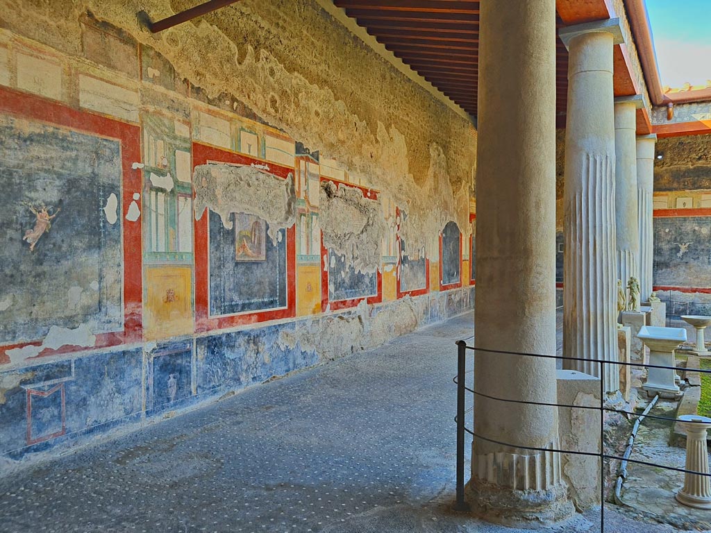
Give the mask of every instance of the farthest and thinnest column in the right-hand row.
M 637 205 L 639 213 L 639 297 L 652 294 L 654 259 L 652 192 L 654 188 L 654 144 L 656 134 L 637 137 Z

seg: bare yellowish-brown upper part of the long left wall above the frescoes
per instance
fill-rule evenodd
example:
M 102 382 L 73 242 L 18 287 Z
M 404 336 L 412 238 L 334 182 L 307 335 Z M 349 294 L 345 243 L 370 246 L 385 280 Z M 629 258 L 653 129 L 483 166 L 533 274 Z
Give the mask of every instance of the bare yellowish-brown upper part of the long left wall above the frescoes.
M 142 4 L 154 20 L 191 6 L 188 0 Z M 447 222 L 468 227 L 476 167 L 471 122 L 395 70 L 316 1 L 244 0 L 159 35 L 142 28 L 128 4 L 58 0 L 0 11 L 13 31 L 81 55 L 80 18 L 87 9 L 164 55 L 208 103 L 223 107 L 239 99 L 230 107 L 247 106 L 341 161 L 360 183 L 390 193 L 411 216 L 411 246 L 427 235 L 428 257 L 437 257 L 437 232 Z

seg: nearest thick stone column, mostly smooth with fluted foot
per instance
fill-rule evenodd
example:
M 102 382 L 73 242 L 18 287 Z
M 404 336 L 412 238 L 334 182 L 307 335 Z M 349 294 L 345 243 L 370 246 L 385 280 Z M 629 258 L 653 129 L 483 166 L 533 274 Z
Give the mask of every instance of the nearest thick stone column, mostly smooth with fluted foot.
M 475 345 L 554 355 L 555 0 L 480 5 Z M 477 351 L 474 379 L 483 394 L 555 403 L 552 359 Z M 474 431 L 477 514 L 515 525 L 572 513 L 550 451 L 555 407 L 477 396 Z

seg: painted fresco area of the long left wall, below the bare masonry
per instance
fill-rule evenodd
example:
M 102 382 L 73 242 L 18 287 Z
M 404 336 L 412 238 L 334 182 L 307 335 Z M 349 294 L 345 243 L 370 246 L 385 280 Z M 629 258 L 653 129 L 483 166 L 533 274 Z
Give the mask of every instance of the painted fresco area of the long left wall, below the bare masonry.
M 382 323 L 388 305 L 429 323 L 473 303 L 461 289 L 469 235 L 454 222 L 439 250 L 408 249 L 392 197 L 87 21 L 84 63 L 0 30 L 0 56 L 12 58 L 0 63 L 0 455 L 182 409 L 417 326 Z M 205 178 L 235 168 L 241 190 Z M 346 204 L 352 227 L 338 228 L 351 247 L 324 245 L 327 183 L 359 198 Z M 247 200 L 232 208 L 236 197 Z

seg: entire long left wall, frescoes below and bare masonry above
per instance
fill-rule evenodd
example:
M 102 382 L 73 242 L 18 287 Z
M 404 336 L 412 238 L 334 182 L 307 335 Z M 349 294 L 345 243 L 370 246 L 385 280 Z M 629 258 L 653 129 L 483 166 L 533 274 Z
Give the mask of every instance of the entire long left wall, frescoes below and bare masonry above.
M 0 468 L 474 304 L 471 122 L 316 0 L 137 9 L 0 0 Z

